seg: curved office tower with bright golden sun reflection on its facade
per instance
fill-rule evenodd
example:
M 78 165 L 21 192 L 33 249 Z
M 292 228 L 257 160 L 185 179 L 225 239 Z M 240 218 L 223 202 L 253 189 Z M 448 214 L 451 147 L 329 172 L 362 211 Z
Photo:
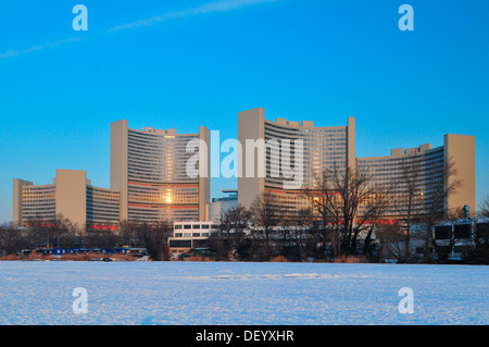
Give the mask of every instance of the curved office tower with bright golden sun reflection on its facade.
M 201 147 L 187 151 L 191 140 Z M 189 175 L 195 156 L 204 174 Z M 158 223 L 206 219 L 210 202 L 210 132 L 137 131 L 122 120 L 111 124 L 111 188 L 121 193 L 121 220 Z

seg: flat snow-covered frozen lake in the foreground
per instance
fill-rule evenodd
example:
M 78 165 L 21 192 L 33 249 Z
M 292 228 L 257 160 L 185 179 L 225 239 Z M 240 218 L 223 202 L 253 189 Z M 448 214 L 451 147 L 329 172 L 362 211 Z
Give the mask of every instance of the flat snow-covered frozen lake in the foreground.
M 0 324 L 488 324 L 488 267 L 3 261 Z

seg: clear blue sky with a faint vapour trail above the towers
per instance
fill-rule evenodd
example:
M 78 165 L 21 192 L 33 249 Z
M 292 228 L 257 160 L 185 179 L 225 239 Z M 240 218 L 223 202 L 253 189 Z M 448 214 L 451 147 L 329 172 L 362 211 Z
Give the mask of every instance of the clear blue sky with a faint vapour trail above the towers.
M 75 32 L 75 4 L 88 30 Z M 414 30 L 401 32 L 403 3 Z M 237 137 L 237 113 L 347 125 L 356 157 L 476 136 L 489 195 L 489 1 L 49 0 L 0 2 L 0 223 L 12 179 L 86 170 L 110 186 L 110 123 L 199 125 Z M 224 154 L 223 154 L 224 157 Z M 214 178 L 211 193 L 236 188 Z

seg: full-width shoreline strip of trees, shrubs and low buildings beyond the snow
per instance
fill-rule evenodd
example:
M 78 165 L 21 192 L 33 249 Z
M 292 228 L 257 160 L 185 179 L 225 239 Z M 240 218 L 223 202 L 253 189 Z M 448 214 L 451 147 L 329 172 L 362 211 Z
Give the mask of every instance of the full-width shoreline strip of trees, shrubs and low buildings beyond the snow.
M 409 223 L 393 224 L 383 224 L 377 218 L 362 219 L 359 224 L 354 216 L 340 218 L 341 211 L 334 213 L 336 220 L 326 212 L 323 220 L 316 220 L 312 210 L 301 210 L 290 214 L 289 220 L 281 220 L 274 208 L 278 203 L 275 199 L 265 191 L 250 209 L 242 206 L 228 209 L 213 232 L 205 235 L 175 231 L 171 221 L 156 224 L 123 221 L 114 230 L 103 225 L 87 230 L 62 214 L 50 223 L 33 220 L 23 227 L 0 224 L 0 261 L 489 264 L 489 198 L 476 218 L 464 210 L 447 218 L 434 215 L 424 221 L 413 218 Z M 318 211 L 324 212 L 327 203 L 334 205 L 326 202 Z M 193 236 L 198 238 L 189 239 Z

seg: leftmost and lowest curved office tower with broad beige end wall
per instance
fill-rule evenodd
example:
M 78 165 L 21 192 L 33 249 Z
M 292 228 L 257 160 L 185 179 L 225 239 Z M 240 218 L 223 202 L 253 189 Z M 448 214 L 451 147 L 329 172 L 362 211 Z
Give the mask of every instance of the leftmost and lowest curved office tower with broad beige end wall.
M 115 230 L 118 199 L 118 191 L 92 186 L 86 171 L 57 170 L 49 185 L 13 181 L 13 222 L 49 225 L 62 215 L 87 231 Z

